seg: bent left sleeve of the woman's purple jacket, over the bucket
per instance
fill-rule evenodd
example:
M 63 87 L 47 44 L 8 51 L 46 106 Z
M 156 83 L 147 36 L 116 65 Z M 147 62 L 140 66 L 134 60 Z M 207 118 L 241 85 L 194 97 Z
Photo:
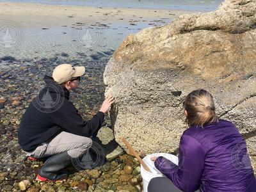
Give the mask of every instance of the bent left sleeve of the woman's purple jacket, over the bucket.
M 179 166 L 164 157 L 157 157 L 156 168 L 182 191 L 196 191 L 204 171 L 205 152 L 195 138 L 182 135 L 179 147 Z

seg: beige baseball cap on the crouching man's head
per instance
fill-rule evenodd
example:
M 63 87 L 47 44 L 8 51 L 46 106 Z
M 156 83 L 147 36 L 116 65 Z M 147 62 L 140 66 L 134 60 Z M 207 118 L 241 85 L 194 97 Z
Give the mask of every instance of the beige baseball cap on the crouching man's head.
M 61 64 L 54 68 L 52 72 L 52 78 L 58 84 L 65 83 L 72 79 L 72 77 L 83 76 L 85 72 L 85 67 L 75 67 L 70 64 Z

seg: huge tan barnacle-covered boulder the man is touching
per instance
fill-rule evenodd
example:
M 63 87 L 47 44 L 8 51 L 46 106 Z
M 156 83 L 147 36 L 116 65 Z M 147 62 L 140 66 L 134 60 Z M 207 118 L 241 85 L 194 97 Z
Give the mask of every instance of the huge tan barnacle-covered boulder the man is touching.
M 138 151 L 175 152 L 186 129 L 184 97 L 204 88 L 221 118 L 234 122 L 256 154 L 256 1 L 227 0 L 214 12 L 184 15 L 132 34 L 104 72 L 116 98 L 111 121 Z

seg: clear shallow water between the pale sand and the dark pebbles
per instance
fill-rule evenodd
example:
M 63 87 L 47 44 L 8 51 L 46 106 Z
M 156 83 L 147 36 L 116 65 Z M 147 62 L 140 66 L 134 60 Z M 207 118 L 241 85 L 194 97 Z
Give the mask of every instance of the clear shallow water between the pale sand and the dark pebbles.
M 69 59 L 76 59 L 78 52 L 91 60 L 99 60 L 100 56 L 96 57 L 93 54 L 113 52 L 130 33 L 138 33 L 143 28 L 159 26 L 166 22 L 170 22 L 170 19 L 134 22 L 134 26 L 131 26 L 129 22 L 104 26 L 100 22 L 95 22 L 51 28 L 3 27 L 0 29 L 0 63 L 2 64 L 0 68 L 3 67 L 5 56 L 12 56 L 17 60 L 40 60 L 59 54 Z M 4 36 L 9 36 L 10 44 L 4 44 L 3 39 L 6 38 Z M 15 42 L 16 38 L 17 42 Z

